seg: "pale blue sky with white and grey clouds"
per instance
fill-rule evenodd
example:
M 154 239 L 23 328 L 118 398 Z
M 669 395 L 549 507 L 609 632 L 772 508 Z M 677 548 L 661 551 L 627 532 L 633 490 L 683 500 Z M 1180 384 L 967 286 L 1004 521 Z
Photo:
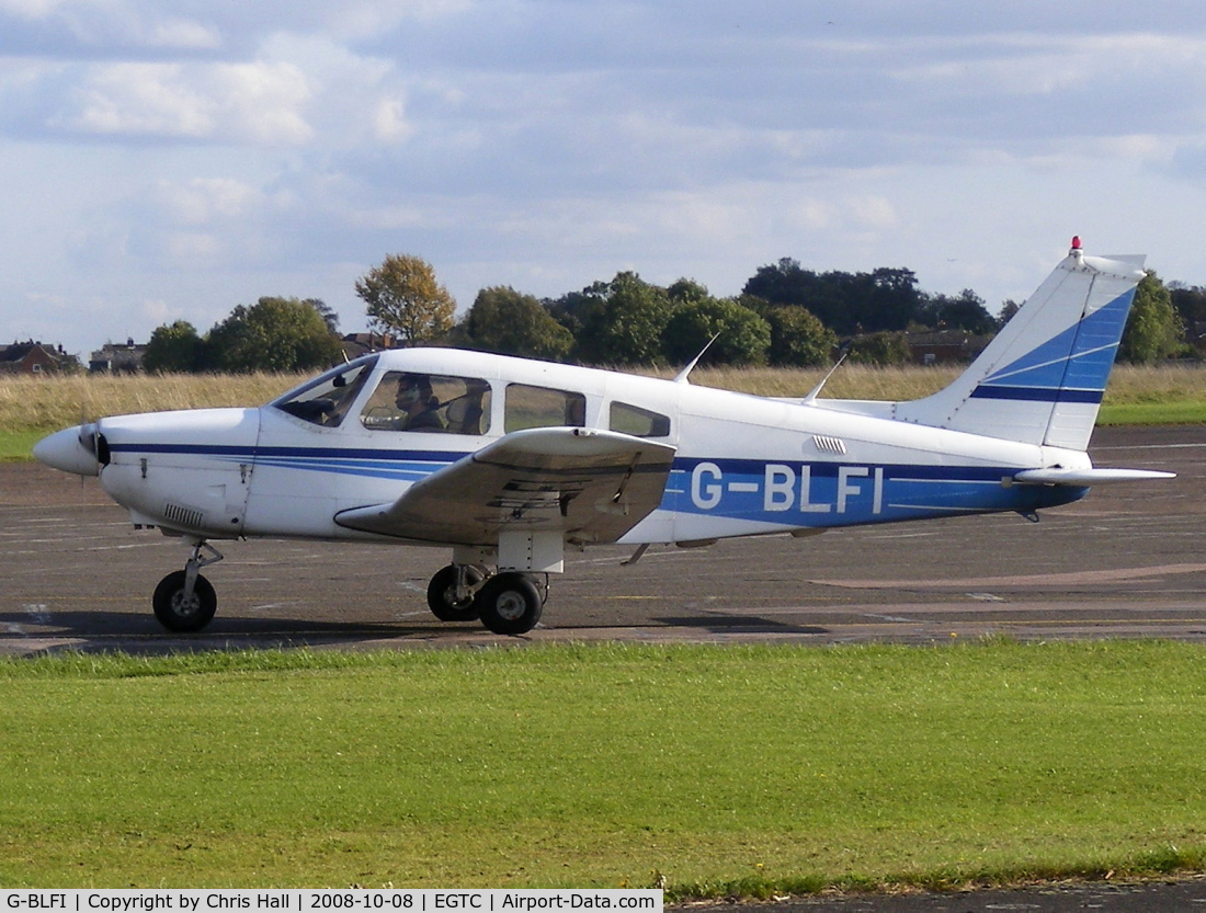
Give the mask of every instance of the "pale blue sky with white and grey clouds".
M 0 0 L 0 344 L 431 262 L 904 267 L 1023 299 L 1072 234 L 1206 285 L 1201 0 Z

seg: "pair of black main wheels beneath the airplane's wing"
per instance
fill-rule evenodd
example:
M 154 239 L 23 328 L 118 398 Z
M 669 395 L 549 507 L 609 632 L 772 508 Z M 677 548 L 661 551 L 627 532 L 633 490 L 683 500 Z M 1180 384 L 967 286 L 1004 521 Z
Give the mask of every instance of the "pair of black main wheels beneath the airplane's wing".
M 427 605 L 440 621 L 480 619 L 496 634 L 526 634 L 544 611 L 549 586 L 531 574 L 498 574 L 476 564 L 449 564 L 427 586 Z

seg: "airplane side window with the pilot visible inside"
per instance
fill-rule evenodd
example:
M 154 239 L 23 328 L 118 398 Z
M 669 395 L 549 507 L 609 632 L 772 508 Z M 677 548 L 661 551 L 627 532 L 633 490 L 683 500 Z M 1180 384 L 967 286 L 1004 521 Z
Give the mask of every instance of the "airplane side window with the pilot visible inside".
M 490 431 L 490 384 L 414 371 L 387 371 L 361 410 L 369 431 L 485 434 Z

